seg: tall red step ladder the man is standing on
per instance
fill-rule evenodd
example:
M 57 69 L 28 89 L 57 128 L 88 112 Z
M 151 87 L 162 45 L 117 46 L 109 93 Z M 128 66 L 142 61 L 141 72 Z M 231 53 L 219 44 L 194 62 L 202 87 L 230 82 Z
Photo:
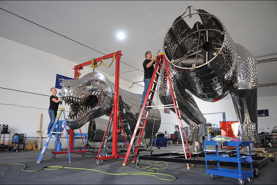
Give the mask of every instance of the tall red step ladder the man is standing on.
M 178 103 L 177 103 L 177 99 L 176 99 L 176 96 L 175 96 L 175 92 L 174 92 L 174 88 L 173 88 L 173 84 L 172 84 L 172 80 L 171 80 L 171 75 L 169 74 L 169 71 L 168 71 L 168 63 L 167 63 L 167 61 L 164 57 L 164 53 L 159 53 L 158 59 L 156 61 L 155 71 L 152 75 L 151 82 L 149 84 L 149 88 L 148 88 L 146 96 L 145 96 L 145 97 L 147 97 L 147 99 L 145 98 L 145 100 L 143 102 L 143 106 L 141 108 L 141 112 L 139 114 L 139 118 L 138 118 L 138 121 L 136 123 L 136 127 L 134 129 L 131 142 L 128 146 L 128 150 L 127 150 L 124 162 L 122 164 L 123 166 L 126 165 L 126 162 L 127 162 L 129 157 L 132 157 L 132 163 L 135 162 L 136 155 L 137 155 L 138 150 L 139 150 L 139 145 L 140 145 L 140 142 L 141 142 L 141 138 L 143 136 L 143 130 L 145 128 L 146 121 L 147 121 L 148 114 L 149 114 L 149 110 L 150 110 L 149 108 L 146 108 L 145 106 L 146 105 L 147 105 L 147 107 L 151 106 L 151 103 L 152 103 L 152 100 L 153 100 L 153 97 L 154 97 L 154 93 L 155 93 L 155 90 L 156 90 L 158 78 L 159 78 L 159 75 L 160 75 L 160 71 L 161 71 L 161 68 L 162 68 L 163 61 L 164 61 L 165 67 L 166 67 L 166 74 L 167 74 L 167 77 L 169 79 L 170 90 L 171 90 L 172 99 L 173 99 L 174 108 L 175 108 L 175 113 L 176 113 L 177 121 L 178 121 L 178 125 L 179 125 L 179 130 L 180 130 L 182 145 L 183 145 L 183 149 L 184 149 L 184 153 L 185 153 L 185 158 L 187 159 L 186 148 L 185 148 L 185 145 L 184 145 L 184 138 L 185 138 L 186 145 L 187 145 L 187 148 L 188 148 L 189 156 L 191 158 L 190 150 L 189 150 L 189 147 L 188 147 L 188 141 L 186 139 L 186 134 L 184 132 L 185 131 L 184 130 L 184 125 L 183 125 L 183 122 L 182 122 L 182 119 L 181 119 L 180 110 L 178 108 Z M 150 95 L 150 93 L 151 93 L 151 95 Z M 150 95 L 150 98 L 149 98 L 149 95 Z M 142 117 L 144 110 L 146 110 L 145 117 Z M 142 124 L 142 126 L 139 126 L 141 121 L 143 121 L 143 124 Z M 140 132 L 139 132 L 139 135 L 136 136 L 136 133 L 137 133 L 138 130 L 140 130 Z M 133 145 L 134 140 L 136 140 L 135 145 Z M 132 154 L 130 154 L 131 149 L 133 150 Z M 192 164 L 192 166 L 193 166 L 193 164 Z M 187 163 L 187 169 L 190 169 L 188 163 Z

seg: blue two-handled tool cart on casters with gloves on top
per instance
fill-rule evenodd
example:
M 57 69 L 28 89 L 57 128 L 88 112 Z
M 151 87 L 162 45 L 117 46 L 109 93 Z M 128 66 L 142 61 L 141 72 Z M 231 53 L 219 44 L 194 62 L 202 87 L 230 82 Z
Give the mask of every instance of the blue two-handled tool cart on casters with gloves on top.
M 248 183 L 252 183 L 252 179 L 250 177 L 253 177 L 253 167 L 252 167 L 252 158 L 251 158 L 251 149 L 250 146 L 254 143 L 254 141 L 227 141 L 226 146 L 233 146 L 236 147 L 237 155 L 234 157 L 228 157 L 226 155 L 219 155 L 218 152 L 218 145 L 216 144 L 217 141 L 204 141 L 204 149 L 205 149 L 205 160 L 206 160 L 206 173 L 210 174 L 210 177 L 212 180 L 214 180 L 214 175 L 218 175 L 219 178 L 221 177 L 231 177 L 236 178 L 239 180 L 239 184 L 244 184 L 244 181 L 242 179 L 247 178 Z M 212 145 L 216 147 L 216 154 L 207 154 L 206 152 L 206 146 Z M 249 156 L 241 156 L 239 147 L 249 147 Z M 207 160 L 215 160 L 217 161 L 217 167 L 216 168 L 210 168 L 207 167 Z M 220 167 L 220 161 L 225 162 L 234 162 L 238 164 L 238 169 L 227 169 L 227 168 L 221 168 Z M 242 171 L 242 162 L 250 161 L 250 171 Z

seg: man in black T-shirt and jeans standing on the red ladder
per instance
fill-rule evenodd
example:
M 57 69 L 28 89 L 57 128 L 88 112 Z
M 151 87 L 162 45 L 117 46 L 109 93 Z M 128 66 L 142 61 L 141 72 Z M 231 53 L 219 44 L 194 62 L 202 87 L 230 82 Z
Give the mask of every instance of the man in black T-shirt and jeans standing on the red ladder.
M 158 53 L 160 52 L 160 50 L 158 51 Z M 151 82 L 151 78 L 152 78 L 152 75 L 154 73 L 154 64 L 155 64 L 155 61 L 158 59 L 158 53 L 157 55 L 155 55 L 155 57 L 151 60 L 152 58 L 152 53 L 151 51 L 147 51 L 145 53 L 145 60 L 143 61 L 143 70 L 144 70 L 144 79 L 143 79 L 143 82 L 144 82 L 144 90 L 143 90 L 143 93 L 142 93 L 142 98 L 141 98 L 141 108 L 142 108 L 142 105 L 143 105 L 143 102 L 144 102 L 144 99 L 145 99 L 145 96 L 146 96 L 146 93 L 147 93 L 147 90 L 148 90 L 148 87 L 149 87 L 149 84 Z

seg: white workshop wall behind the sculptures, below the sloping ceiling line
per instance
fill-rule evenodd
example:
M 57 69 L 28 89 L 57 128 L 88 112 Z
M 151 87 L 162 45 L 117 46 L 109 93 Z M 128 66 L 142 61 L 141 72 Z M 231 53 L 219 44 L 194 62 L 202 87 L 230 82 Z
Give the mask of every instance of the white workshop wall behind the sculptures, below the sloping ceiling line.
M 48 107 L 51 92 L 49 89 L 55 87 L 56 74 L 73 78 L 72 68 L 77 63 L 3 37 L 0 37 L 0 43 L 0 124 L 8 124 L 11 136 L 14 133 L 24 133 L 27 138 L 38 138 L 39 133 L 36 131 L 39 130 L 40 116 L 43 114 L 42 137 L 47 137 L 47 127 L 50 121 Z M 79 63 L 83 62 L 87 61 L 79 61 Z M 84 67 L 81 77 L 91 71 L 90 67 Z M 115 81 L 115 77 L 109 76 L 108 78 L 112 82 Z M 131 85 L 132 82 L 122 79 L 119 81 L 120 88 L 142 94 L 143 86 L 134 84 L 130 88 Z M 57 93 L 59 92 L 60 89 L 57 89 Z M 153 102 L 162 105 L 157 99 L 157 93 L 155 93 Z M 231 100 L 225 99 L 227 98 L 214 103 L 196 99 L 196 102 L 202 113 L 225 112 L 226 121 L 237 121 Z M 270 132 L 272 127 L 277 125 L 276 101 L 276 97 L 258 98 L 258 109 L 269 110 L 269 116 L 258 117 L 258 127 L 264 128 L 265 132 Z M 65 117 L 67 117 L 69 106 L 63 103 L 59 107 L 65 108 Z M 173 112 L 166 114 L 163 109 L 160 109 L 160 112 L 162 124 L 159 131 L 163 133 L 167 131 L 167 134 L 174 133 L 175 124 L 177 124 L 176 115 Z M 216 123 L 218 126 L 219 121 L 222 121 L 222 115 L 205 115 L 205 117 L 207 122 Z M 185 122 L 183 123 L 185 127 L 188 126 Z M 82 127 L 81 132 L 86 133 L 87 127 Z

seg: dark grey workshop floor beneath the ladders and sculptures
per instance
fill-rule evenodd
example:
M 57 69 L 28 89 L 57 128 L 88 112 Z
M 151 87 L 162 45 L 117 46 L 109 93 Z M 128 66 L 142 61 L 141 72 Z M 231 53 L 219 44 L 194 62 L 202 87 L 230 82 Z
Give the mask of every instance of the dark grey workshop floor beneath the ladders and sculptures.
M 142 149 L 139 156 L 149 156 L 150 148 Z M 189 164 L 190 169 L 187 169 L 186 163 L 166 162 L 163 158 L 160 161 L 139 160 L 140 166 L 131 160 L 122 165 L 124 158 L 107 159 L 96 165 L 98 150 L 88 149 L 83 156 L 82 153 L 70 153 L 69 161 L 68 153 L 56 154 L 53 158 L 52 151 L 46 149 L 38 163 L 41 150 L 0 152 L 0 184 L 239 184 L 238 179 L 230 177 L 215 176 L 212 180 L 206 174 L 205 164 Z M 160 149 L 152 147 L 152 154 L 181 151 L 184 151 L 181 144 Z M 251 177 L 252 184 L 277 183 L 277 163 L 267 161 L 258 169 L 259 176 Z M 243 167 L 242 170 L 250 171 L 250 168 Z M 247 179 L 244 182 L 249 184 Z

